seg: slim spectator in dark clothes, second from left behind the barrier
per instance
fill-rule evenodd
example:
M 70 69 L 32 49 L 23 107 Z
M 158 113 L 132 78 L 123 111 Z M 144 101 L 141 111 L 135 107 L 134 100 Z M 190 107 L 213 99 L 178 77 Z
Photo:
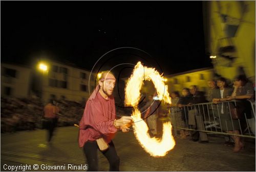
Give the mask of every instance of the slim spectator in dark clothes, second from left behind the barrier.
M 181 120 L 183 121 L 183 128 L 188 128 L 187 121 L 188 121 L 188 105 L 192 101 L 192 96 L 189 92 L 188 88 L 183 88 L 182 89 L 182 96 L 179 99 L 179 102 L 177 103 L 179 108 L 181 109 Z M 186 136 L 189 135 L 188 131 L 186 130 L 181 130 L 180 131 L 180 136 L 182 139 L 185 139 Z

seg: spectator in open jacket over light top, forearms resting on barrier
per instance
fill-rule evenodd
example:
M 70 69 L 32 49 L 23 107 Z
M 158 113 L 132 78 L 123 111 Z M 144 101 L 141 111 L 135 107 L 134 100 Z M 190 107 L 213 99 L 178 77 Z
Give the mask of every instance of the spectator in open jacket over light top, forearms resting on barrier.
M 227 82 L 225 78 L 219 78 L 217 80 L 217 86 L 219 87 L 219 89 L 214 92 L 214 99 L 212 99 L 212 102 L 214 102 L 215 104 L 219 103 L 217 105 L 218 112 L 216 112 L 216 116 L 219 118 L 221 129 L 227 133 L 239 135 L 239 121 L 238 119 L 231 118 L 229 108 L 232 107 L 232 104 L 226 102 L 226 97 L 228 97 L 232 93 L 232 88 L 227 87 L 226 83 Z M 243 148 L 244 144 L 241 142 L 239 136 L 231 137 L 234 140 L 233 152 L 239 152 Z

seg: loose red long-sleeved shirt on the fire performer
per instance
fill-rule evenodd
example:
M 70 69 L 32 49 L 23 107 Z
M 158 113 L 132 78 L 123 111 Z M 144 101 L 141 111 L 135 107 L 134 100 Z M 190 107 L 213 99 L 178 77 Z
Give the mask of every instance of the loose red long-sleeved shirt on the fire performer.
M 79 124 L 79 146 L 83 147 L 88 140 L 95 141 L 101 137 L 109 143 L 117 131 L 113 125 L 115 117 L 113 96 L 106 100 L 98 92 L 94 99 L 89 99 Z

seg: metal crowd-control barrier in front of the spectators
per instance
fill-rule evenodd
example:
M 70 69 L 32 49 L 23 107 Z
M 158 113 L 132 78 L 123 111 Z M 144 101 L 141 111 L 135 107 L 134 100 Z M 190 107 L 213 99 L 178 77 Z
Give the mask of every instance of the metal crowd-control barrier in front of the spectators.
M 179 130 L 187 130 L 255 138 L 255 102 L 250 100 L 201 103 L 168 110 L 175 136 Z

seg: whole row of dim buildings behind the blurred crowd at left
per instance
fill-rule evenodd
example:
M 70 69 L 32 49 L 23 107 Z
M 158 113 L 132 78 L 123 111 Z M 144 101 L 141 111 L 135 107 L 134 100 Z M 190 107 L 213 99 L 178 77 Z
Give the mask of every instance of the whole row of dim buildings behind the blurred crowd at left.
M 37 95 L 50 99 L 85 103 L 95 88 L 95 73 L 60 62 L 45 62 L 47 70 L 1 63 L 1 96 Z M 90 82 L 89 82 L 90 79 Z

